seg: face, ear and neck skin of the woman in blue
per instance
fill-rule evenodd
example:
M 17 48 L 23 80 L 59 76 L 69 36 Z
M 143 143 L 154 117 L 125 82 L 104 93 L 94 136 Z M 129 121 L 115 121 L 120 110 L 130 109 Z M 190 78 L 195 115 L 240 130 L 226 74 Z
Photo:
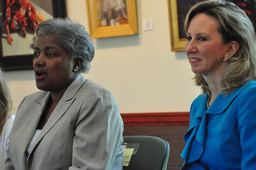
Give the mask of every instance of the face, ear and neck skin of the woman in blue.
M 223 44 L 222 35 L 217 30 L 219 21 L 203 13 L 196 14 L 190 21 L 185 51 L 191 65 L 191 70 L 201 74 L 211 90 L 212 104 L 222 91 L 220 80 L 227 62 L 224 57 L 232 57 L 239 49 L 237 41 Z

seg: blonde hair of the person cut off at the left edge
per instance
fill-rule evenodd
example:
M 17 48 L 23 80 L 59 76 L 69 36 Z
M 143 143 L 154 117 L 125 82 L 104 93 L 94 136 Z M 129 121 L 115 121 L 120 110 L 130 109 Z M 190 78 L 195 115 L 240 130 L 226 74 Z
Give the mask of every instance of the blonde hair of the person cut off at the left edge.
M 8 117 L 12 115 L 13 102 L 11 100 L 10 90 L 4 78 L 4 73 L 0 68 L 0 134 Z

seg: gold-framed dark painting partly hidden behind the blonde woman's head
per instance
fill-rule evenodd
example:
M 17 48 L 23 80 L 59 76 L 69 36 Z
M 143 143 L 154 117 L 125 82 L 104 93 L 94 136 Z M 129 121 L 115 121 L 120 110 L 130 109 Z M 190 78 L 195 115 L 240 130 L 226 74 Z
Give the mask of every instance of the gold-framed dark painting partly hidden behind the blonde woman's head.
M 184 21 L 191 6 L 204 0 L 168 0 L 170 39 L 172 51 L 184 51 L 186 34 L 184 32 Z M 256 29 L 256 1 L 255 0 L 228 0 L 235 3 L 251 19 Z

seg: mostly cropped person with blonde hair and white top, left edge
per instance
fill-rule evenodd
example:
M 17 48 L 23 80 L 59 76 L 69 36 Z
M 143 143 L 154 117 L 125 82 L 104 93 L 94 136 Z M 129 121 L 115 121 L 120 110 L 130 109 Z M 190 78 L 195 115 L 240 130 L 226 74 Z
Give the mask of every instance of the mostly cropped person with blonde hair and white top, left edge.
M 13 103 L 11 94 L 6 84 L 4 74 L 0 68 L 0 169 L 3 169 L 7 155 L 11 126 L 15 115 L 11 113 Z

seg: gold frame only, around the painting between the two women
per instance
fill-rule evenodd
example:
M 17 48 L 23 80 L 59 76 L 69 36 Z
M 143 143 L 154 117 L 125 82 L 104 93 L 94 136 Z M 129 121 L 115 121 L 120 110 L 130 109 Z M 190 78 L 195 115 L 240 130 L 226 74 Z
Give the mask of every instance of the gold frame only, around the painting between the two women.
M 136 1 L 122 0 L 125 4 L 125 12 L 127 13 L 127 23 L 114 26 L 101 26 L 99 15 L 99 3 L 103 0 L 86 0 L 87 14 L 89 22 L 89 33 L 92 38 L 106 38 L 117 36 L 128 36 L 138 33 Z M 103 7 L 102 7 L 103 8 Z M 119 11 L 120 12 L 120 11 Z M 116 22 L 117 20 L 115 19 Z M 107 21 L 106 21 L 107 22 Z

